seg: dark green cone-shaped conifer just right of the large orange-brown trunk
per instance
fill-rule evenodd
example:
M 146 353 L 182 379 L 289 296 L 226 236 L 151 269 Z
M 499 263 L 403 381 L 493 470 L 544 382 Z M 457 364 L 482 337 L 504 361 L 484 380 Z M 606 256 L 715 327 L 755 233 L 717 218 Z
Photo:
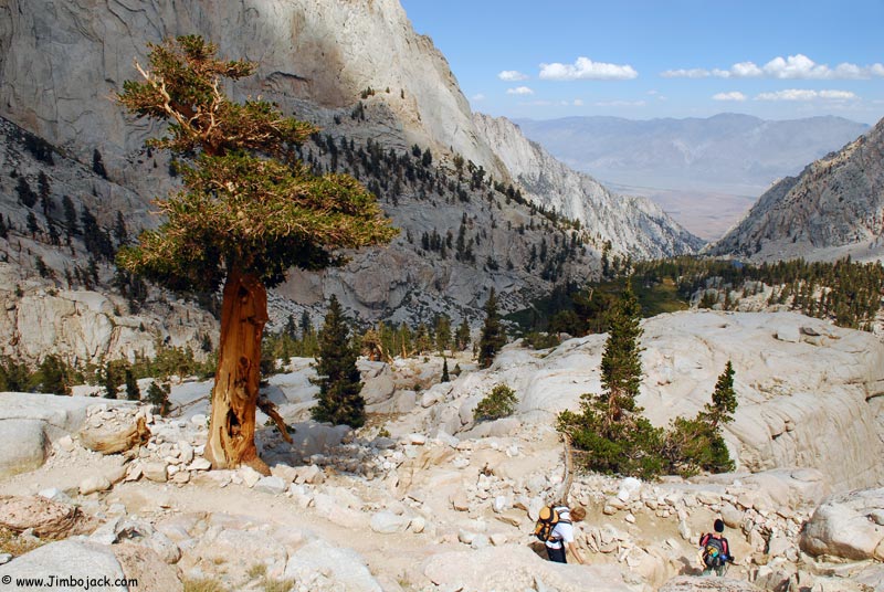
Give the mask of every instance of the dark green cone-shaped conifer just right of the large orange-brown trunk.
M 362 382 L 356 357 L 347 319 L 340 303 L 333 295 L 319 330 L 319 355 L 316 359 L 318 378 L 315 380 L 319 384 L 319 400 L 311 410 L 314 420 L 350 427 L 365 425 L 366 401 L 360 394 Z

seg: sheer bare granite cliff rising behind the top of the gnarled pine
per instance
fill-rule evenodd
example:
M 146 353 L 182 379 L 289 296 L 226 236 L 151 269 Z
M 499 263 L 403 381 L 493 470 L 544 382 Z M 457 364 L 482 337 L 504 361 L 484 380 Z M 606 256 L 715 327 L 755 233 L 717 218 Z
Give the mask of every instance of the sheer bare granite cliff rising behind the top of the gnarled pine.
M 136 76 L 131 61 L 145 63 L 146 42 L 199 32 L 224 55 L 260 62 L 243 96 L 286 112 L 305 103 L 349 110 L 372 88 L 378 95 L 366 102 L 383 95 L 402 148 L 451 148 L 505 176 L 444 56 L 412 30 L 398 0 L 13 0 L 0 14 L 0 115 L 81 156 L 99 147 L 114 168 L 114 157 L 138 150 L 152 130 L 131 127 L 106 97 Z

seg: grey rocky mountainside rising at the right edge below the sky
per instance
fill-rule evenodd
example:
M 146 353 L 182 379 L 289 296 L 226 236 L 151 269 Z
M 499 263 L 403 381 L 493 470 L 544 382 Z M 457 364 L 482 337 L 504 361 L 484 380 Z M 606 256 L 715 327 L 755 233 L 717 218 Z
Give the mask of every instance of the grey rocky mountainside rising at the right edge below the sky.
M 756 261 L 884 255 L 884 120 L 786 178 L 708 250 Z

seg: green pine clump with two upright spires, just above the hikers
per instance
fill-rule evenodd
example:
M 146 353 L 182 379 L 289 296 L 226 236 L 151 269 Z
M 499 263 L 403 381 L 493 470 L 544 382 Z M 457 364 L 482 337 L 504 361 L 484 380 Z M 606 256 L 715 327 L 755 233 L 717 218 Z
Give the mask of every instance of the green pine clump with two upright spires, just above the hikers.
M 696 417 L 677 417 L 669 431 L 654 427 L 635 403 L 642 379 L 640 318 L 638 299 L 627 282 L 609 316 L 601 360 L 604 392 L 581 395 L 580 412 L 561 412 L 558 430 L 570 437 L 589 471 L 645 479 L 664 473 L 688 476 L 733 471 L 720 435 L 720 425 L 733 421 L 737 408 L 732 363 L 727 362 L 718 378 L 712 402 Z

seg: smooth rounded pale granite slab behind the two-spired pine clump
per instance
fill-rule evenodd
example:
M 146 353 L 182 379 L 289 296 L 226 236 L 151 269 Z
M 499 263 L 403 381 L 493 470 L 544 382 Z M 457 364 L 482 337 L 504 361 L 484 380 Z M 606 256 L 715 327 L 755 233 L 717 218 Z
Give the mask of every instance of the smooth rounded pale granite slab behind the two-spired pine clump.
M 794 326 L 799 342 L 777 339 Z M 884 346 L 874 336 L 791 313 L 676 313 L 643 323 L 644 380 L 639 404 L 655 425 L 693 417 L 709 401 L 730 360 L 739 406 L 724 430 L 738 468 L 819 469 L 833 486 L 871 487 L 884 479 Z M 817 332 L 811 337 L 807 334 Z M 453 383 L 459 405 L 427 409 L 427 429 L 473 429 L 473 409 L 497 383 L 518 397 L 523 422 L 548 422 L 579 408 L 580 394 L 602 391 L 599 366 L 606 336 L 565 341 L 544 352 L 508 347 L 484 372 Z M 815 494 L 814 494 L 815 496 Z

